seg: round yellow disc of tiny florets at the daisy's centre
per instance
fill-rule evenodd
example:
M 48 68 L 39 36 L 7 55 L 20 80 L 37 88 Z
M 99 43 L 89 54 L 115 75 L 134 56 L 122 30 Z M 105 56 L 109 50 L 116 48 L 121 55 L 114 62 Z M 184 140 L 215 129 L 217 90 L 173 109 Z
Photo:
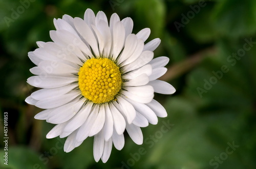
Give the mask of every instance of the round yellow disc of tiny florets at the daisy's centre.
M 78 85 L 82 95 L 92 102 L 109 102 L 121 89 L 121 72 L 110 59 L 89 59 L 78 72 Z

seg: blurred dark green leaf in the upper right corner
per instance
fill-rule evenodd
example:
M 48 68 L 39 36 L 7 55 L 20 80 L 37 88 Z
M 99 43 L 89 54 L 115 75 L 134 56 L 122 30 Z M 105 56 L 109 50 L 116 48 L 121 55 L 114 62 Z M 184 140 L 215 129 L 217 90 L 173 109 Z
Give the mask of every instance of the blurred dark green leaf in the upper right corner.
M 256 31 L 256 1 L 225 0 L 212 13 L 215 29 L 232 37 L 252 35 Z

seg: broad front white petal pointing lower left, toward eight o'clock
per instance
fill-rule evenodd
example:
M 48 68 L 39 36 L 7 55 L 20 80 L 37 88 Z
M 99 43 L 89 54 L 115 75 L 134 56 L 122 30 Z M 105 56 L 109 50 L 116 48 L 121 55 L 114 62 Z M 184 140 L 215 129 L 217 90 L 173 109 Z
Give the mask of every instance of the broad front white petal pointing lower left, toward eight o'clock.
M 53 124 L 59 124 L 64 123 L 71 119 L 73 116 L 76 115 L 76 113 L 81 108 L 82 104 L 84 102 L 84 99 L 78 100 L 75 99 L 74 101 L 62 105 L 60 107 L 55 108 L 51 114 L 48 116 L 47 122 L 53 123 Z

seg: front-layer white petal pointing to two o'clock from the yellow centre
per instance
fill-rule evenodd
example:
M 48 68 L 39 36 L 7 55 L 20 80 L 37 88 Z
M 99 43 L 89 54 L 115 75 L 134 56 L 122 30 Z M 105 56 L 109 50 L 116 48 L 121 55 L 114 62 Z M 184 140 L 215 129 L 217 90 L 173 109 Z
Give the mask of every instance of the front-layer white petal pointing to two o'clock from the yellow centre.
M 134 62 L 130 63 L 129 65 L 125 65 L 121 68 L 121 71 L 123 72 L 129 72 L 135 69 L 138 69 L 144 65 L 146 65 L 148 62 L 150 62 L 154 57 L 154 53 L 152 51 L 143 51 L 139 58 L 137 58 Z

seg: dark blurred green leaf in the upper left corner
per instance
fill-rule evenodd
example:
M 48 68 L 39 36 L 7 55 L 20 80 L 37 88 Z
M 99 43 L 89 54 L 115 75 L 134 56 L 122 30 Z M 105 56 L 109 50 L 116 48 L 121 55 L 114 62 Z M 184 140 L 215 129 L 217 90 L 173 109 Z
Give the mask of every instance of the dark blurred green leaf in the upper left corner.
M 16 1 L 6 3 L 3 8 L 5 16 L 4 46 L 8 53 L 16 58 L 25 58 L 30 48 L 27 35 L 30 28 L 38 21 L 42 12 L 41 2 Z M 41 19 L 41 18 L 40 18 Z

